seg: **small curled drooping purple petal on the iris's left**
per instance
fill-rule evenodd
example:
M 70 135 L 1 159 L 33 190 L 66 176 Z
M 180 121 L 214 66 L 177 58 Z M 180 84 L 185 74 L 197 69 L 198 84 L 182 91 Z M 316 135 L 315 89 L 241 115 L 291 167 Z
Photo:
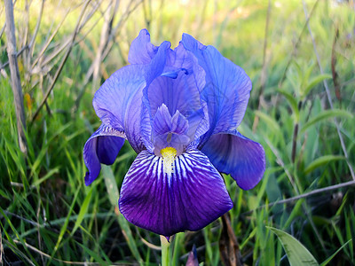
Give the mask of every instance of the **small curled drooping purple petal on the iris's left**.
M 91 184 L 99 176 L 101 163 L 113 164 L 124 144 L 124 132 L 102 124 L 83 147 L 83 160 L 89 171 L 85 184 Z

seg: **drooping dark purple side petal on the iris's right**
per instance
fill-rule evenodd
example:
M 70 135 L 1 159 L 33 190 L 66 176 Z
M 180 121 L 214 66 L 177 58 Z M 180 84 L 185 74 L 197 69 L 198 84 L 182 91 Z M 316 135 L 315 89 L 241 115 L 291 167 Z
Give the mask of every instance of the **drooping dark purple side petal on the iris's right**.
M 262 145 L 233 134 L 217 134 L 201 149 L 219 172 L 230 174 L 243 190 L 259 183 L 265 170 L 265 152 Z

